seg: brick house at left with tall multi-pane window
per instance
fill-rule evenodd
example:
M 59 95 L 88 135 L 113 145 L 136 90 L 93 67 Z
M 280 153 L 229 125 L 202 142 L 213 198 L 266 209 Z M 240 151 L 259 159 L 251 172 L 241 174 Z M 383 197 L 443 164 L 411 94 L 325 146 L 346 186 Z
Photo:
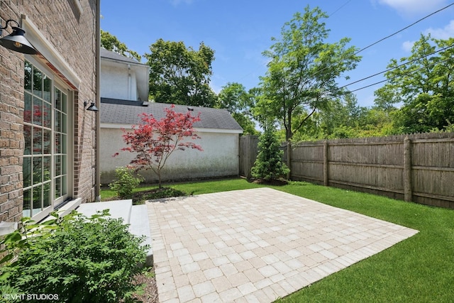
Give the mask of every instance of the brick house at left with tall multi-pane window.
M 0 26 L 17 21 L 38 51 L 0 42 L 0 221 L 99 196 L 99 114 L 86 110 L 99 106 L 99 16 L 99 0 L 0 1 Z

